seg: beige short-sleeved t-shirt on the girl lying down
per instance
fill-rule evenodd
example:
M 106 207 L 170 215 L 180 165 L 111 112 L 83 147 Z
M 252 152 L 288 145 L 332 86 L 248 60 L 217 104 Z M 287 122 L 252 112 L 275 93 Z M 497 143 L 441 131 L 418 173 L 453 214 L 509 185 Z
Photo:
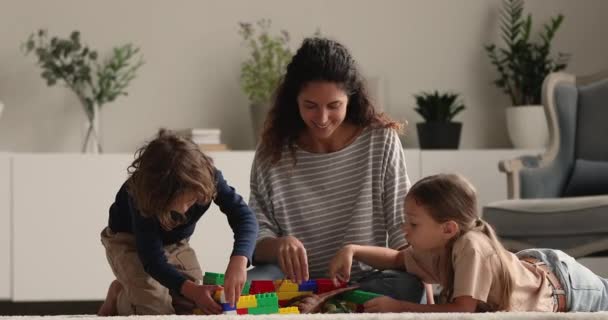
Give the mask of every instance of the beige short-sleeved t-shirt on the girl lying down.
M 513 279 L 510 311 L 553 311 L 552 289 L 546 274 L 538 267 L 520 261 L 507 252 L 507 265 Z M 445 287 L 446 257 L 440 254 L 405 249 L 405 268 L 425 283 Z M 469 231 L 454 242 L 451 263 L 454 266 L 453 298 L 470 296 L 481 301 L 478 309 L 493 311 L 498 305 L 500 260 L 490 239 L 478 231 Z

